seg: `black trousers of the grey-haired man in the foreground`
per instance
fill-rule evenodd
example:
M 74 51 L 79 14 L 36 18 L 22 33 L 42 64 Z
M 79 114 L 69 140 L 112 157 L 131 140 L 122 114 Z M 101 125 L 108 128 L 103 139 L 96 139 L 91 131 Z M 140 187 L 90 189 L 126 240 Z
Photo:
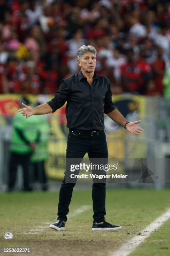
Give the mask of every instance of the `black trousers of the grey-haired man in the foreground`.
M 104 131 L 98 136 L 90 136 L 80 134 L 76 131 L 69 132 L 67 137 L 67 159 L 82 159 L 85 154 L 88 154 L 89 159 L 107 159 L 107 143 Z M 66 183 L 65 177 L 60 187 L 59 204 L 58 204 L 58 218 L 67 221 L 67 214 L 72 197 L 72 191 L 75 183 Z M 92 201 L 93 201 L 93 219 L 94 222 L 102 222 L 105 220 L 105 183 L 93 183 L 92 185 Z

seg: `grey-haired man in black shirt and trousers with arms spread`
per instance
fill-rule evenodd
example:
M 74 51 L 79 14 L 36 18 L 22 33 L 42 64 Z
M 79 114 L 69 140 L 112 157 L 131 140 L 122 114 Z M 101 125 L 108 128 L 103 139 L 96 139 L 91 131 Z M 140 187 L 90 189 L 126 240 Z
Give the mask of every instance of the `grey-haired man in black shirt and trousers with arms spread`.
M 66 105 L 67 127 L 70 128 L 67 139 L 66 159 L 82 159 L 88 153 L 90 159 L 107 159 L 107 143 L 104 133 L 103 114 L 106 113 L 112 120 L 119 123 L 132 134 L 143 131 L 136 122 L 128 122 L 112 103 L 110 82 L 106 77 L 95 73 L 96 49 L 93 46 L 81 46 L 77 52 L 77 61 L 80 72 L 62 81 L 60 90 L 55 97 L 36 108 L 27 105 L 19 110 L 28 118 L 31 115 L 40 115 L 54 112 L 62 105 Z M 67 161 L 66 161 L 67 166 Z M 58 218 L 50 228 L 64 230 L 67 221 L 68 207 L 75 183 L 67 183 L 65 177 L 60 188 L 58 204 Z M 92 230 L 118 230 L 105 221 L 105 183 L 93 183 L 93 224 Z

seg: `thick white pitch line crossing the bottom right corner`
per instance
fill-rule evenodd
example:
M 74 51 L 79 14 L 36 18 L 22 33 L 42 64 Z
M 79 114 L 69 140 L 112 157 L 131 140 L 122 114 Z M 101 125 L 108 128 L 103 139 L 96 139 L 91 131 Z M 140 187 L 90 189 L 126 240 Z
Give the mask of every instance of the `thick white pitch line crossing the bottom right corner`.
M 150 234 L 157 230 L 165 221 L 170 218 L 170 209 L 168 209 L 158 219 L 154 220 L 150 225 L 140 232 L 140 235 L 134 236 L 130 241 L 124 243 L 117 251 L 112 252 L 109 256 L 127 256 L 132 253 L 137 246 L 140 245 Z

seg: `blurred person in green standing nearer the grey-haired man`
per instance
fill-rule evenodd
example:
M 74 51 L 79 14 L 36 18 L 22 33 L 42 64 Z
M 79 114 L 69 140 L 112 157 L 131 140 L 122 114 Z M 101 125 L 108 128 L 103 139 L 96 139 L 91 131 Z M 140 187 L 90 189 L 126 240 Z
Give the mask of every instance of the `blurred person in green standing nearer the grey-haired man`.
M 40 132 L 40 139 L 37 147 L 31 156 L 32 169 L 35 182 L 39 182 L 42 190 L 47 190 L 47 177 L 45 174 L 45 161 L 48 158 L 47 143 L 50 133 L 50 125 L 47 117 L 44 115 L 37 115 L 37 127 Z

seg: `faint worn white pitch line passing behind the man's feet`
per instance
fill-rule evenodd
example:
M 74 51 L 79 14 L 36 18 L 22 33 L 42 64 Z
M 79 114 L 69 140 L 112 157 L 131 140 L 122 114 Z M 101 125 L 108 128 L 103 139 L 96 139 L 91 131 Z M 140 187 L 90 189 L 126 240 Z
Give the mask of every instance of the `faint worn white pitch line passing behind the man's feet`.
M 70 214 L 68 214 L 67 219 L 70 217 L 75 217 L 76 215 L 85 212 L 86 210 L 90 209 L 91 206 L 90 205 L 82 205 L 81 207 L 79 207 L 78 209 L 74 210 L 73 212 L 71 212 Z M 50 223 L 45 222 L 43 224 L 47 224 L 50 225 Z M 37 228 L 35 229 L 31 229 L 30 231 L 28 231 L 27 233 L 24 233 L 25 235 L 34 235 L 34 234 L 38 234 L 40 232 L 42 232 L 45 228 L 49 228 L 49 226 L 37 226 Z

